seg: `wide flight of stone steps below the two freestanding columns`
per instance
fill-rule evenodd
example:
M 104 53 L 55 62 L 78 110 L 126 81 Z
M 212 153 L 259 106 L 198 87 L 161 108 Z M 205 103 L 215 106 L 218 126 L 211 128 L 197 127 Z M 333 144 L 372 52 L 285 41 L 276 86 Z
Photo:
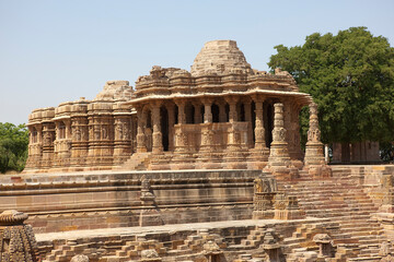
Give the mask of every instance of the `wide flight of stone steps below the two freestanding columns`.
M 349 171 L 334 169 L 333 177 L 300 179 L 280 187 L 296 195 L 306 216 L 329 218 L 340 230 L 332 235 L 338 250 L 334 261 L 380 261 L 380 243 L 386 240 L 383 228 L 372 214 L 378 207 L 354 180 Z

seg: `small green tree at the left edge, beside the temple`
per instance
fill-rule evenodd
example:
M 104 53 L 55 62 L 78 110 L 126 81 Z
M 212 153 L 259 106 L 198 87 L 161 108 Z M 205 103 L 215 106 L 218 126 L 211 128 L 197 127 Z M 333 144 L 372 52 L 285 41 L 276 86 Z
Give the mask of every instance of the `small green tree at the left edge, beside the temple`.
M 28 132 L 24 124 L 0 122 L 0 172 L 22 171 L 28 146 Z

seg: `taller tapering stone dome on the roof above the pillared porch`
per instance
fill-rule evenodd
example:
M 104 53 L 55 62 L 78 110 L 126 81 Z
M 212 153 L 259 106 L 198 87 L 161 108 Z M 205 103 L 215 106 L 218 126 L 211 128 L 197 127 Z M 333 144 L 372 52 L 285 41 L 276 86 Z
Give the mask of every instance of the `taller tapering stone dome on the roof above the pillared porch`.
M 204 45 L 192 66 L 194 76 L 227 74 L 229 72 L 253 74 L 251 64 L 234 40 L 212 40 Z

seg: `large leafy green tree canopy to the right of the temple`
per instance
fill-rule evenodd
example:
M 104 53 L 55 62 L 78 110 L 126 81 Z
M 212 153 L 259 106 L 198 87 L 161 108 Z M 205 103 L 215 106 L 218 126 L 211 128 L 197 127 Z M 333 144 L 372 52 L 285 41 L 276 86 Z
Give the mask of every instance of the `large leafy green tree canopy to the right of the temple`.
M 268 66 L 313 96 L 323 142 L 394 141 L 394 48 L 386 38 L 351 27 L 275 48 Z

